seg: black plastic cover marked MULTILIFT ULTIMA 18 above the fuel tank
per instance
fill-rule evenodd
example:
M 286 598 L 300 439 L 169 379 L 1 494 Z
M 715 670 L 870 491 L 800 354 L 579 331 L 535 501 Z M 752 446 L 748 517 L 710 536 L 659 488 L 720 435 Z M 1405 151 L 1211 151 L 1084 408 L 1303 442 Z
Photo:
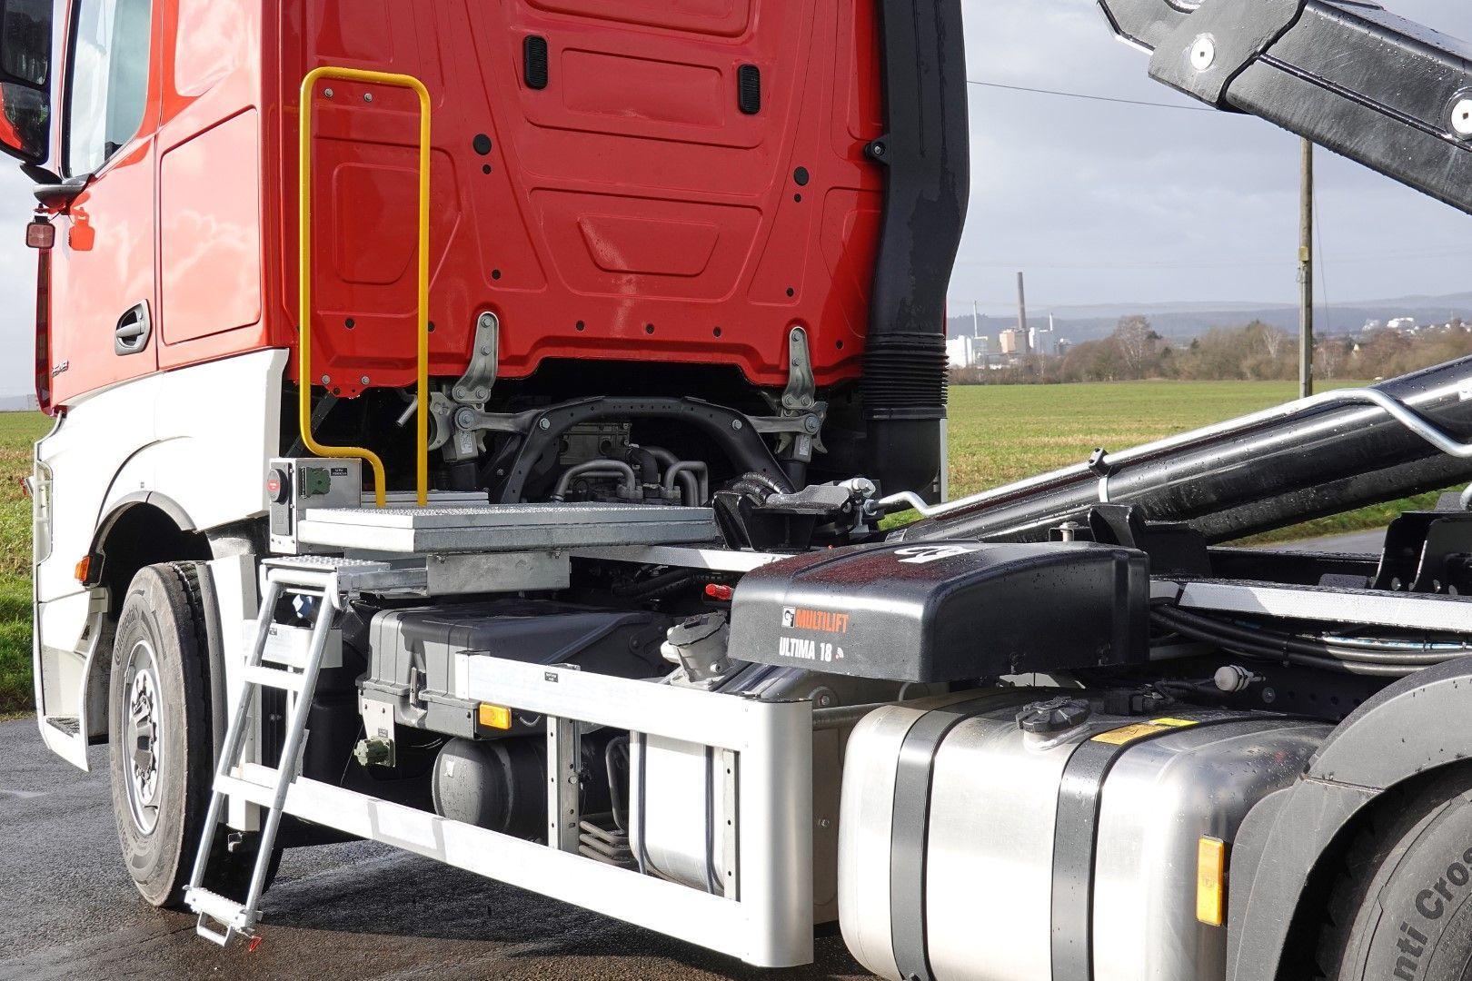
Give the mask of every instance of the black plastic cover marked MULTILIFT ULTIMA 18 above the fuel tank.
M 1145 553 L 1095 543 L 885 544 L 757 569 L 732 654 L 861 678 L 951 682 L 1147 656 Z

